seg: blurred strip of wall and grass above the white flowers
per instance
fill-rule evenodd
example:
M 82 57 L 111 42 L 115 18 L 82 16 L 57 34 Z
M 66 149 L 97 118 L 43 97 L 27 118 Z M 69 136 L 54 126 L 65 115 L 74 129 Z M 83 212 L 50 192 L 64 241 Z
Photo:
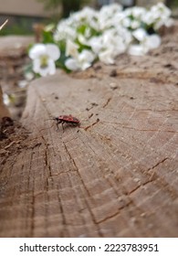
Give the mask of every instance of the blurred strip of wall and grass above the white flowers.
M 102 5 L 119 3 L 124 7 L 132 5 L 155 5 L 163 2 L 178 16 L 178 0 L 0 0 L 0 24 L 8 18 L 8 24 L 0 33 L 3 35 L 30 35 L 38 23 L 48 24 L 69 16 L 85 5 L 99 9 Z

